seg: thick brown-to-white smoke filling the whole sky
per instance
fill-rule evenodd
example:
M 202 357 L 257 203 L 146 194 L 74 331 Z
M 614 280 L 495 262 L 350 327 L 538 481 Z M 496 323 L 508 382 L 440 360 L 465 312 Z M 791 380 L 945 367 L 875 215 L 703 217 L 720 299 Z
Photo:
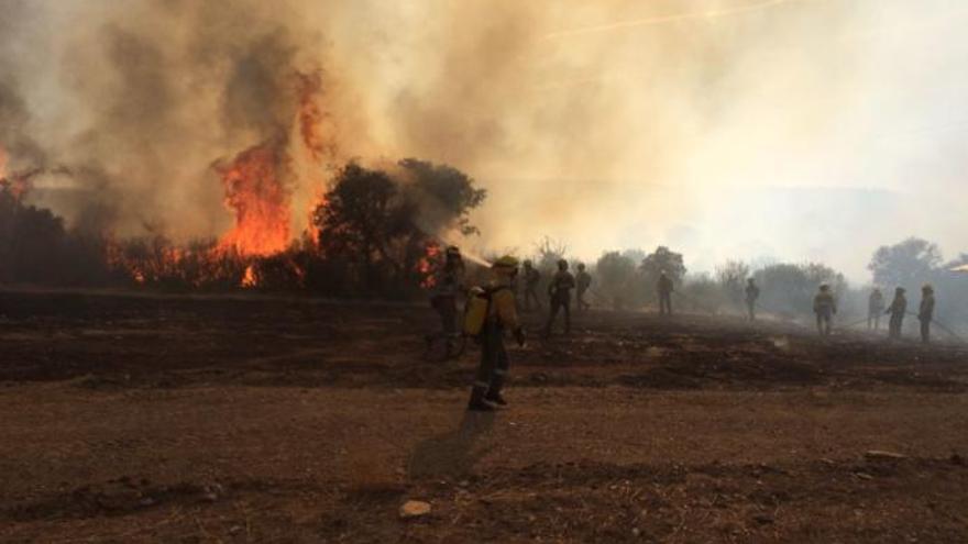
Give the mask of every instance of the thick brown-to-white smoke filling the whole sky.
M 212 165 L 292 140 L 315 74 L 322 163 L 468 171 L 482 248 L 669 244 L 693 270 L 811 258 L 851 279 L 910 234 L 964 249 L 949 0 L 0 4 L 0 145 L 73 173 L 35 200 L 119 234 L 226 232 Z M 326 182 L 311 154 L 293 153 L 294 227 Z

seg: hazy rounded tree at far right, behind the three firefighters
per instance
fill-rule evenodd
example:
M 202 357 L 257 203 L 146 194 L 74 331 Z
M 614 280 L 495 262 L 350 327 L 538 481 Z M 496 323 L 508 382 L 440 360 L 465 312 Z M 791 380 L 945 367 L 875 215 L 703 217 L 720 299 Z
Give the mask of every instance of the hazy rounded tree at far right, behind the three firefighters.
M 876 284 L 913 288 L 931 278 L 932 271 L 942 263 L 937 245 L 926 240 L 911 237 L 875 252 L 867 268 L 873 273 Z

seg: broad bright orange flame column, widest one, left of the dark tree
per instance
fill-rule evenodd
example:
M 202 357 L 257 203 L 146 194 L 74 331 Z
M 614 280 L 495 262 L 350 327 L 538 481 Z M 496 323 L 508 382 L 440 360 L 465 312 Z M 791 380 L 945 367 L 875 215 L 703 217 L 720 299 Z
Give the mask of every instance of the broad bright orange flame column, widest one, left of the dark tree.
M 235 212 L 235 225 L 222 236 L 220 248 L 242 256 L 268 256 L 288 247 L 289 192 L 279 147 L 266 142 L 216 167 L 226 189 L 226 206 Z

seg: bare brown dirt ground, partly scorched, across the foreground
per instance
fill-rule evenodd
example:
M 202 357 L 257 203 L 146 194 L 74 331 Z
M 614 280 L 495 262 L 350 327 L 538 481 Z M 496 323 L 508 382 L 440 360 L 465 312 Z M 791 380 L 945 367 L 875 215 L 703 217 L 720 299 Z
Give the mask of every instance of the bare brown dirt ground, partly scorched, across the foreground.
M 0 314 L 0 542 L 968 541 L 956 345 L 592 312 L 469 415 L 477 354 L 425 360 L 424 307 L 21 291 Z M 410 499 L 431 513 L 400 520 Z

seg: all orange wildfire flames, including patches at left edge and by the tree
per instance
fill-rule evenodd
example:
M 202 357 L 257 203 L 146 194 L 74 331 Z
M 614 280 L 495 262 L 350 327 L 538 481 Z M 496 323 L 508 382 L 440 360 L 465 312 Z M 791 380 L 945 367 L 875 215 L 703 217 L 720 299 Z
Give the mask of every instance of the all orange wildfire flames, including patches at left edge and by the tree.
M 316 220 L 327 206 L 329 177 L 334 171 L 327 167 L 339 158 L 339 145 L 332 116 L 323 108 L 321 75 L 296 73 L 290 84 L 296 107 L 288 131 L 280 130 L 275 137 L 212 166 L 224 191 L 223 203 L 233 214 L 231 227 L 212 243 L 193 245 L 179 245 L 161 234 L 119 238 L 110 231 L 101 232 L 103 246 L 99 251 L 111 277 L 139 285 L 200 289 L 306 285 L 312 262 L 299 253 L 302 248 L 295 241 L 301 234 L 314 251 L 321 251 L 326 233 L 319 231 Z M 73 175 L 66 167 L 26 173 L 10 168 L 10 157 L 0 147 L 0 193 L 18 201 L 35 175 Z M 300 201 L 294 198 L 297 190 L 316 195 L 307 202 L 309 210 L 301 225 L 294 221 L 294 202 Z M 417 259 L 414 271 L 424 288 L 437 282 L 442 253 L 440 245 L 429 243 Z

